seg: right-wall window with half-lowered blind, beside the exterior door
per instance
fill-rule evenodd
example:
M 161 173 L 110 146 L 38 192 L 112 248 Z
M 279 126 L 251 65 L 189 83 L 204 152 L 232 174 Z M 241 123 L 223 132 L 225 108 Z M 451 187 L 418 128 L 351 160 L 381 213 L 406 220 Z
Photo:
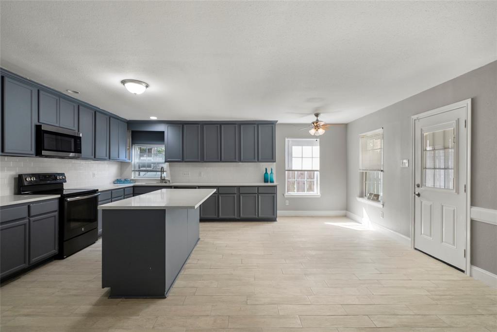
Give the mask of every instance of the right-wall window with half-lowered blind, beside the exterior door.
M 362 196 L 383 201 L 383 129 L 359 135 L 359 171 L 362 173 Z

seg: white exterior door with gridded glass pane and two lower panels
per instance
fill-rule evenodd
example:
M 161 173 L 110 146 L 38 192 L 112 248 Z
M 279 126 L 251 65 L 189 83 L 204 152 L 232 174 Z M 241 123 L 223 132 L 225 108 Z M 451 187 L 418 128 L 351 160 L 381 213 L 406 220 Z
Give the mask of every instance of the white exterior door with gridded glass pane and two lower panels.
M 466 270 L 468 107 L 454 107 L 414 120 L 414 247 Z

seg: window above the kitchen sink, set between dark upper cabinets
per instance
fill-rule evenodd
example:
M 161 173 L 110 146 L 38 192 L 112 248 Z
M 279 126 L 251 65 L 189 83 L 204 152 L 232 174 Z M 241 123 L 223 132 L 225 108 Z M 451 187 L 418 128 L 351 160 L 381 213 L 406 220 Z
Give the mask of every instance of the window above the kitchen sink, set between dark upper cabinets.
M 166 168 L 164 160 L 164 145 L 133 144 L 133 178 L 159 179 L 161 167 Z

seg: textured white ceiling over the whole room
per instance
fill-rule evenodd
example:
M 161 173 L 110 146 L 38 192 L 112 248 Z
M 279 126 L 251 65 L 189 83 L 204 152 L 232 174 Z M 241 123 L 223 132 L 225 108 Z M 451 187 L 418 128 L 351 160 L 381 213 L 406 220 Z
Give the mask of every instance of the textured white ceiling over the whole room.
M 497 1 L 2 0 L 0 15 L 2 67 L 128 119 L 320 106 L 349 122 L 497 59 Z

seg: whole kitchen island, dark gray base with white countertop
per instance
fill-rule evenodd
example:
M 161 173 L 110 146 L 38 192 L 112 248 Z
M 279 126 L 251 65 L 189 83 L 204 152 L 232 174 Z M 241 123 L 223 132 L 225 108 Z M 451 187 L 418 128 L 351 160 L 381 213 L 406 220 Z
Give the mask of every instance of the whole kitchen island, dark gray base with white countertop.
M 197 244 L 213 189 L 162 189 L 100 205 L 102 288 L 110 298 L 165 298 Z

